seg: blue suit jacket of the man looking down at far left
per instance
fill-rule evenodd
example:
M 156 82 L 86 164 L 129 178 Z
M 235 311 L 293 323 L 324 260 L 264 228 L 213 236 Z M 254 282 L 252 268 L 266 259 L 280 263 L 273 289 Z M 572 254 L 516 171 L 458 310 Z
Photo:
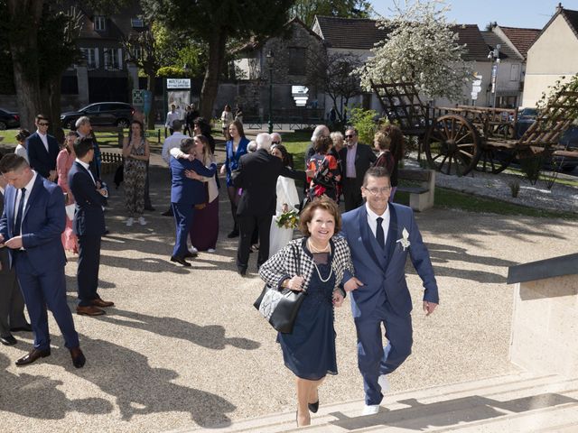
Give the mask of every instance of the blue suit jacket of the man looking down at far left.
M 16 189 L 5 189 L 4 212 L 0 218 L 0 233 L 5 241 L 14 236 Z M 23 247 L 37 272 L 49 272 L 66 264 L 61 234 L 66 227 L 64 194 L 61 187 L 36 176 L 33 190 L 26 202 L 22 220 Z M 10 251 L 11 266 L 14 251 Z

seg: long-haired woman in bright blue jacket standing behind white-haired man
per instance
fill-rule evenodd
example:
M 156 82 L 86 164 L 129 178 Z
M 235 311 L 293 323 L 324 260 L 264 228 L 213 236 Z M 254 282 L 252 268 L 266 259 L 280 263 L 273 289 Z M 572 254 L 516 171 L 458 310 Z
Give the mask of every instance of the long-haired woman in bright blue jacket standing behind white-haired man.
M 231 231 L 227 237 L 232 238 L 238 236 L 238 189 L 233 186 L 231 173 L 233 170 L 237 170 L 239 158 L 247 153 L 247 144 L 249 141 L 245 137 L 243 124 L 241 124 L 238 120 L 234 120 L 232 124 L 229 124 L 228 134 L 230 135 L 230 139 L 225 145 L 225 152 L 227 153 L 227 156 L 225 158 L 225 163 L 220 168 L 220 174 L 227 173 L 228 200 L 231 202 L 231 214 L 233 214 L 233 221 L 235 223 L 233 226 L 233 231 Z

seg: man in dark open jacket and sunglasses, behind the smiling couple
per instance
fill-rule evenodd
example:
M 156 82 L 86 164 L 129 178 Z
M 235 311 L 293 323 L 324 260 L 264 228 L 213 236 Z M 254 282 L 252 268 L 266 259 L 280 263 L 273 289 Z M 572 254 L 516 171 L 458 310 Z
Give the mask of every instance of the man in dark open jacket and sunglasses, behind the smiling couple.
M 363 198 L 361 198 L 363 176 L 371 164 L 377 160 L 376 154 L 371 148 L 367 144 L 358 143 L 358 139 L 358 131 L 352 126 L 348 127 L 345 131 L 347 146 L 340 150 L 343 168 L 341 185 L 343 186 L 346 211 L 363 204 Z

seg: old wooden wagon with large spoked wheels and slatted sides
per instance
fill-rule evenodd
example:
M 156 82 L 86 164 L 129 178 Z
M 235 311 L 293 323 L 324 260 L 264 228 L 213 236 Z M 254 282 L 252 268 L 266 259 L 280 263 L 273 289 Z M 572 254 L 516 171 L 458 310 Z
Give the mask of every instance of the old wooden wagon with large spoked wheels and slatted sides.
M 371 82 L 390 122 L 415 136 L 429 165 L 445 174 L 471 170 L 499 173 L 515 158 L 536 155 L 578 158 L 559 143 L 578 114 L 578 92 L 562 88 L 540 110 L 527 131 L 516 138 L 517 110 L 480 106 L 430 107 L 413 83 Z

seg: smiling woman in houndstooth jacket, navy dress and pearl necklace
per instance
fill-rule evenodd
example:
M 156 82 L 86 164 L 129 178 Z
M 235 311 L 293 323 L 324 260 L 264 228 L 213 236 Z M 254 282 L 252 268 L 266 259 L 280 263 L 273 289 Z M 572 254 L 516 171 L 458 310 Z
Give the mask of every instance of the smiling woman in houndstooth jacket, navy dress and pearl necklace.
M 340 307 L 344 272 L 354 273 L 350 247 L 340 236 L 340 210 L 330 198 L 316 198 L 303 209 L 295 239 L 263 263 L 259 275 L 278 290 L 306 290 L 291 334 L 277 335 L 285 366 L 296 376 L 297 426 L 311 424 L 319 409 L 318 388 L 337 374 L 333 307 Z M 299 259 L 297 259 L 297 256 Z M 298 266 L 299 263 L 299 266 Z

